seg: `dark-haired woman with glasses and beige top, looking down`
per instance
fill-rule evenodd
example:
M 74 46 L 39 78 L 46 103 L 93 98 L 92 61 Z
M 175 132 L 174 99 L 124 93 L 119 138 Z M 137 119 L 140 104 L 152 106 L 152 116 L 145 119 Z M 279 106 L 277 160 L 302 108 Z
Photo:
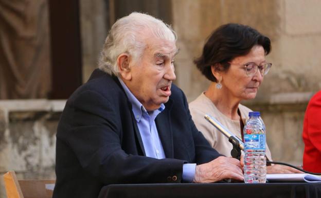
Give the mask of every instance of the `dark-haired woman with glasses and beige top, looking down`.
M 270 39 L 257 30 L 240 24 L 226 24 L 210 35 L 202 56 L 194 61 L 202 74 L 212 82 L 204 93 L 189 104 L 192 118 L 211 146 L 226 156 L 230 156 L 233 146 L 204 119 L 204 115 L 215 117 L 243 139 L 244 124 L 251 110 L 240 102 L 255 98 L 264 75 L 272 66 L 265 60 L 270 51 Z M 272 160 L 267 145 L 266 157 Z M 280 165 L 269 166 L 267 171 L 300 172 Z

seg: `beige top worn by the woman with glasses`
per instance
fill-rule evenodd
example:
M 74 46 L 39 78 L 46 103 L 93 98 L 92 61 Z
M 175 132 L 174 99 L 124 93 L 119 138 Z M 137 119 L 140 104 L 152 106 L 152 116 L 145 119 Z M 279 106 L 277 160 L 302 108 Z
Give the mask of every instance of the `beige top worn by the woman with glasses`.
M 205 120 L 204 115 L 208 114 L 211 117 L 217 119 L 224 127 L 236 136 L 241 138 L 241 124 L 239 120 L 232 120 L 221 113 L 214 103 L 202 93 L 197 99 L 189 103 L 189 110 L 192 115 L 192 119 L 199 131 L 203 133 L 210 145 L 216 149 L 219 153 L 230 157 L 230 151 L 233 149 L 233 145 L 228 141 L 228 138 L 224 136 L 219 130 Z M 248 112 L 252 110 L 246 106 L 239 104 L 239 111 L 241 119 L 245 124 L 248 119 Z M 272 160 L 271 151 L 266 145 L 266 157 Z

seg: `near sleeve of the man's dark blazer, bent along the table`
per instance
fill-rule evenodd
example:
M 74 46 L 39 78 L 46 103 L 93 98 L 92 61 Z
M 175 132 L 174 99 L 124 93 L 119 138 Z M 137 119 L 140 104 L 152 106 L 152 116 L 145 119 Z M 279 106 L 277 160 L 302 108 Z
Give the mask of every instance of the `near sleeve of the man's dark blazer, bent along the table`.
M 81 167 L 104 185 L 166 183 L 182 180 L 184 160 L 132 155 L 121 148 L 121 119 L 113 103 L 95 91 L 84 91 L 67 102 L 69 115 L 62 117 L 68 130 L 57 134 L 75 153 Z M 66 122 L 65 122 L 66 121 Z M 65 123 L 64 123 L 65 122 Z M 204 141 L 199 135 L 199 144 Z M 177 180 L 168 177 L 176 176 Z

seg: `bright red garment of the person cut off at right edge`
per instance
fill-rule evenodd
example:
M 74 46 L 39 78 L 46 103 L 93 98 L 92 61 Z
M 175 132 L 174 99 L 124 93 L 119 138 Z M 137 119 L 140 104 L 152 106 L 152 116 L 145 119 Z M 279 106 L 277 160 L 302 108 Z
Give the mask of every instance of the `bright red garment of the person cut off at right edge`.
M 316 93 L 308 104 L 302 137 L 305 143 L 303 168 L 321 172 L 321 91 Z

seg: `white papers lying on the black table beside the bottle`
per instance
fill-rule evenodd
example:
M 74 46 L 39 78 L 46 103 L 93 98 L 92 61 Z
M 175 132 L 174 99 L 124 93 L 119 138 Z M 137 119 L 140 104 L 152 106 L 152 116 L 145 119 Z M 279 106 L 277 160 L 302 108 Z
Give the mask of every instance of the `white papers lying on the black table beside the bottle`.
M 269 182 L 321 182 L 321 176 L 293 173 L 293 174 L 266 174 Z

